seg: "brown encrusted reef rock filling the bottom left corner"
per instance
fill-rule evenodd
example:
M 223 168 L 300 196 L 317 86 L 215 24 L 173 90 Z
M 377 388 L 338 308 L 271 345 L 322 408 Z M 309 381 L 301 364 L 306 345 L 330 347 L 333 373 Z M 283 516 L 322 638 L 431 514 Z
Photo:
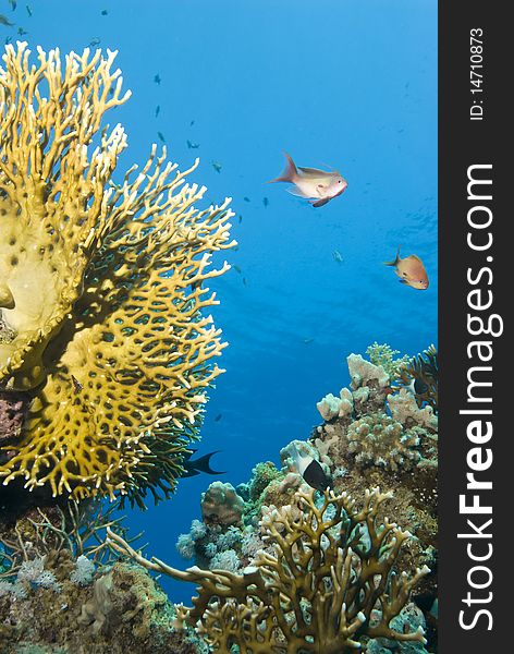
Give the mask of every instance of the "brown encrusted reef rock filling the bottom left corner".
M 207 647 L 192 631 L 172 628 L 175 611 L 140 567 L 117 562 L 93 583 L 77 585 L 54 570 L 58 591 L 38 588 L 23 597 L 0 593 L 0 652 L 19 654 L 200 654 Z

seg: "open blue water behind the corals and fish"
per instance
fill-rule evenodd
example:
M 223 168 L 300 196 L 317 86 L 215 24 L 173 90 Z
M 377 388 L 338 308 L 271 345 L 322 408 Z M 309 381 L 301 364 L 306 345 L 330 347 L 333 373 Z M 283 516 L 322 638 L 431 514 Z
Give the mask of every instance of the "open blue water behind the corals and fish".
M 33 51 L 82 51 L 93 39 L 119 50 L 133 92 L 109 118 L 128 134 L 120 175 L 146 161 L 159 131 L 182 168 L 200 157 L 193 179 L 208 201 L 231 196 L 242 216 L 240 247 L 224 253 L 241 272 L 212 284 L 230 347 L 199 445 L 222 450 L 212 464 L 224 481 L 246 481 L 258 461 L 278 463 L 281 447 L 307 438 L 316 402 L 348 382 L 348 353 L 377 340 L 414 354 L 437 341 L 435 0 L 46 0 L 28 2 L 32 17 L 17 4 L 0 3 L 16 23 L 0 36 L 19 38 L 22 26 Z M 315 209 L 285 184 L 267 185 L 282 149 L 301 166 L 339 169 L 348 189 Z M 428 291 L 382 265 L 399 244 L 424 261 Z M 210 481 L 183 480 L 172 500 L 130 514 L 149 553 L 191 565 L 174 543 Z M 166 584 L 173 600 L 191 597 Z

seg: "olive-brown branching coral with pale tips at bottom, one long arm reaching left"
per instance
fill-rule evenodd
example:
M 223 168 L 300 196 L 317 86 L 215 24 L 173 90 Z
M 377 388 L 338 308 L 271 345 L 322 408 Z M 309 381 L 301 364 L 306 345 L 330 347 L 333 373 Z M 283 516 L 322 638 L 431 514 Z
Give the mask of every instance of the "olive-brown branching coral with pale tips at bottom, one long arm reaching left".
M 378 524 L 389 497 L 367 491 L 358 508 L 346 493 L 326 492 L 321 506 L 314 491 L 296 493 L 299 517 L 290 506 L 271 511 L 261 525 L 268 552 L 258 553 L 242 574 L 175 570 L 144 558 L 108 530 L 109 542 L 149 570 L 198 584 L 193 607 L 183 607 L 181 617 L 216 652 L 236 644 L 242 654 L 345 654 L 370 638 L 424 641 L 420 630 L 399 633 L 389 626 L 428 572 L 425 567 L 412 578 L 395 576 L 411 534 L 388 519 Z

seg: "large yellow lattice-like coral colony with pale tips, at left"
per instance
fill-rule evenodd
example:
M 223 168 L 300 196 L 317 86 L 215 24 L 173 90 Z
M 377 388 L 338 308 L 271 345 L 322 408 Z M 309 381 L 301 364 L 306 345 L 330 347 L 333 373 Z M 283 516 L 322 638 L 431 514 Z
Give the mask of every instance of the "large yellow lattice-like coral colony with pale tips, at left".
M 203 311 L 229 199 L 197 210 L 156 148 L 111 181 L 126 147 L 100 123 L 124 102 L 115 52 L 7 47 L 0 68 L 0 389 L 34 397 L 0 452 L 7 484 L 83 498 L 173 488 L 224 346 Z M 91 152 L 93 150 L 93 152 Z

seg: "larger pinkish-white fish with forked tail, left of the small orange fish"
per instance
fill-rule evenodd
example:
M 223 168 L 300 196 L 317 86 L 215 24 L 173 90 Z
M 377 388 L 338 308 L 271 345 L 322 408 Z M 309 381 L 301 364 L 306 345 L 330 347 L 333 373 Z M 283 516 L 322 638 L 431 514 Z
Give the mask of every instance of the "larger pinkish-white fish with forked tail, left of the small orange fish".
M 336 170 L 327 172 L 317 168 L 296 168 L 293 159 L 284 153 L 286 165 L 282 174 L 272 182 L 291 182 L 293 189 L 287 189 L 293 195 L 310 199 L 314 207 L 322 207 L 332 198 L 341 195 L 348 185 Z

